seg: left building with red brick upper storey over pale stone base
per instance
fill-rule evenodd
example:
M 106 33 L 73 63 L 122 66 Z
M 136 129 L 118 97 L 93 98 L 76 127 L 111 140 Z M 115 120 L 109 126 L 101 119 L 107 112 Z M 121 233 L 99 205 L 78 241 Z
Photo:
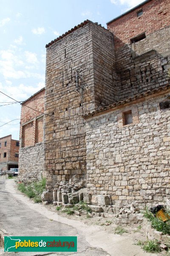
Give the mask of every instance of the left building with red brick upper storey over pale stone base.
M 37 180 L 43 171 L 45 88 L 22 103 L 20 125 L 20 179 Z

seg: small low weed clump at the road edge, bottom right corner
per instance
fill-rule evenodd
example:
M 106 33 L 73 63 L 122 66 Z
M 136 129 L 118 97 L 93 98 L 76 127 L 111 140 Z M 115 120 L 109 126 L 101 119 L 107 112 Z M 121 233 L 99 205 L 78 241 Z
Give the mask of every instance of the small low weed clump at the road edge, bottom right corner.
M 161 247 L 158 240 L 139 240 L 137 245 L 141 246 L 147 253 L 158 253 L 161 252 Z

